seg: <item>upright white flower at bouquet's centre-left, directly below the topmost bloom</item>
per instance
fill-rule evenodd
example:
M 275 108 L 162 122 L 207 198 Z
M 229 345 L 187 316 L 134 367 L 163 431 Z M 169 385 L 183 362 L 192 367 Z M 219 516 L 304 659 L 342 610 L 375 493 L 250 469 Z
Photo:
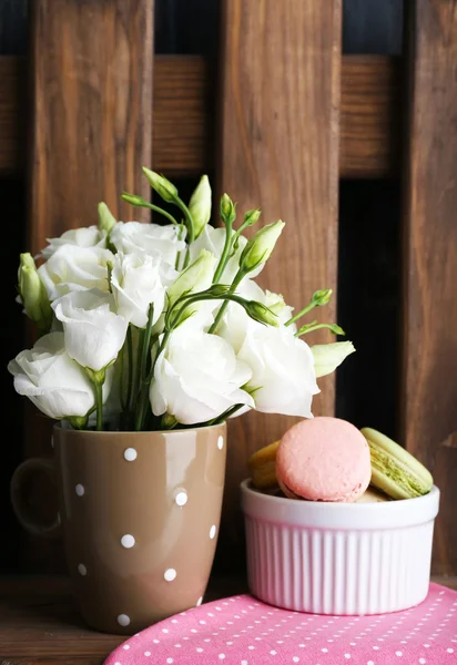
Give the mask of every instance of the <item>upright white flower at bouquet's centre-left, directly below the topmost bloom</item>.
M 145 328 L 151 304 L 154 306 L 153 324 L 163 311 L 167 284 L 162 280 L 161 264 L 160 258 L 148 254 L 119 252 L 115 255 L 111 285 L 116 313 L 138 328 Z M 172 272 L 173 277 L 177 276 Z

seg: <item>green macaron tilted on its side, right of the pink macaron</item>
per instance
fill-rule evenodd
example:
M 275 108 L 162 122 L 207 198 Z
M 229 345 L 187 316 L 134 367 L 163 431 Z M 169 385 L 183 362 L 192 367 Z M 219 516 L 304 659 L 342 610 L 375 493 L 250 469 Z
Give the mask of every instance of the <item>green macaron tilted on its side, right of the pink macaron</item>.
M 380 432 L 362 430 L 372 457 L 372 485 L 392 499 L 414 499 L 431 490 L 431 473 L 407 450 Z

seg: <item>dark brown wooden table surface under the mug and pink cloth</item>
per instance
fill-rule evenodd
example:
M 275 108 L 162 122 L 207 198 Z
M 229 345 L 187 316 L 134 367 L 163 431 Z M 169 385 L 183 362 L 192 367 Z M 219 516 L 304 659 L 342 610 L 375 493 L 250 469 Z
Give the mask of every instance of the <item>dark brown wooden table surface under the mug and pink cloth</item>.
M 434 581 L 457 589 L 457 577 Z M 214 579 L 205 600 L 244 592 L 243 579 Z M 84 626 L 64 577 L 0 577 L 0 665 L 101 665 L 124 640 Z

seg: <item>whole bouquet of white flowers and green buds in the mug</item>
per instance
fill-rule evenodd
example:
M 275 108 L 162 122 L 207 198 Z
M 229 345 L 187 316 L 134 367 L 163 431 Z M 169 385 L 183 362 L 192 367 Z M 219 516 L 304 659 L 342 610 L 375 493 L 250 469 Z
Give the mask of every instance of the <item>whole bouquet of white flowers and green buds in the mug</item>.
M 116 222 L 101 203 L 98 226 L 49 239 L 38 268 L 21 255 L 19 299 L 39 340 L 9 364 L 16 390 L 78 429 L 214 424 L 247 409 L 312 417 L 316 378 L 354 351 L 349 341 L 309 347 L 302 339 L 322 327 L 343 335 L 334 324 L 297 328 L 331 289 L 293 315 L 254 280 L 283 222 L 247 239 L 261 211 L 246 212 L 235 228 L 235 204 L 224 194 L 214 228 L 205 175 L 186 205 L 170 181 L 143 172 L 179 218 L 124 193 L 166 224 Z

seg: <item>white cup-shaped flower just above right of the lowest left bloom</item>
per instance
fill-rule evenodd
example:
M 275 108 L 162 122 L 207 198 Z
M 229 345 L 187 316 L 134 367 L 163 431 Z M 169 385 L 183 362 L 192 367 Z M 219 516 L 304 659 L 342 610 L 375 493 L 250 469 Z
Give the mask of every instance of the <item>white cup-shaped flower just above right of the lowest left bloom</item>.
M 62 321 L 67 352 L 82 367 L 103 369 L 118 357 L 129 321 L 114 314 L 111 294 L 73 291 L 52 305 Z

